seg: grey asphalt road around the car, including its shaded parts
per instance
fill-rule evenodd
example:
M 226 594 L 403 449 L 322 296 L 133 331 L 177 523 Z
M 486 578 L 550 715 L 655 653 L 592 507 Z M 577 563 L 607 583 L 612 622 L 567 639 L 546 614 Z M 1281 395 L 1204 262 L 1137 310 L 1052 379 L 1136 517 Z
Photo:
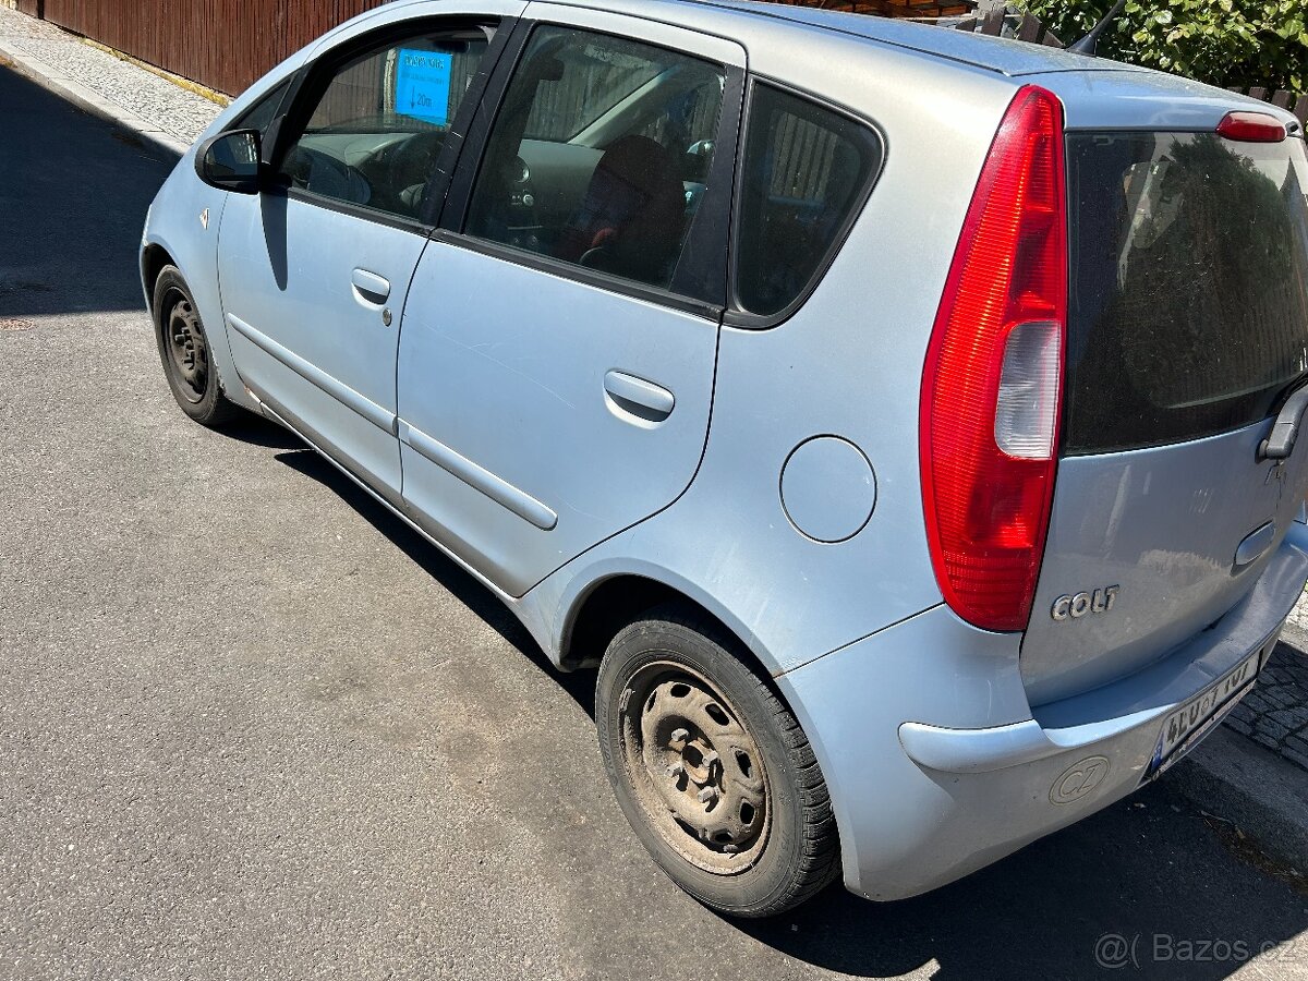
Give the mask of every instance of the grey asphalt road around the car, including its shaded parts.
M 681 895 L 590 675 L 296 439 L 174 407 L 169 166 L 0 69 L 0 977 L 1308 978 L 1308 895 L 1165 782 L 917 900 Z

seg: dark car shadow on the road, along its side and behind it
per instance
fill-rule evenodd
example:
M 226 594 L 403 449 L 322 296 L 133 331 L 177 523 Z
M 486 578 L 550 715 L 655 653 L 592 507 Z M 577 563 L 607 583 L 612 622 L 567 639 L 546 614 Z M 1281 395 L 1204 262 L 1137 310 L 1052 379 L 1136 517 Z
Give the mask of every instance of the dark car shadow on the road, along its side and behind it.
M 559 672 L 470 573 L 317 453 L 289 450 L 276 459 L 334 490 L 594 718 L 591 672 Z M 1308 977 L 1295 973 L 1308 964 L 1308 888 L 1237 857 L 1211 820 L 1164 780 L 926 896 L 878 904 L 837 884 L 790 914 L 721 923 L 798 961 L 855 977 L 931 965 L 935 981 L 1112 974 L 1216 981 L 1262 951 L 1270 976 Z M 1278 963 L 1288 969 L 1278 971 Z

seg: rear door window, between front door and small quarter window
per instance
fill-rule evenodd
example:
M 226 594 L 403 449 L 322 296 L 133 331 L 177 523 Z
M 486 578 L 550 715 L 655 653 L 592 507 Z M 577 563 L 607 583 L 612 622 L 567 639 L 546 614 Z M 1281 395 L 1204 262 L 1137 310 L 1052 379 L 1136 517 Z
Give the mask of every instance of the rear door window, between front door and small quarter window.
M 538 27 L 464 232 L 666 289 L 706 194 L 723 86 L 721 65 L 688 55 Z

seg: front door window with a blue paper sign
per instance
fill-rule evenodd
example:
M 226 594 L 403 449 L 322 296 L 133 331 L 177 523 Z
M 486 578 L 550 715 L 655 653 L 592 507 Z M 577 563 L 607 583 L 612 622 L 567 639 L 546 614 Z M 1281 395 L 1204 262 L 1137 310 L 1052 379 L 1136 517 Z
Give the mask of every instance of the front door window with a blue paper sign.
M 290 186 L 417 218 L 489 35 L 488 27 L 429 31 L 336 68 L 290 140 L 281 165 Z

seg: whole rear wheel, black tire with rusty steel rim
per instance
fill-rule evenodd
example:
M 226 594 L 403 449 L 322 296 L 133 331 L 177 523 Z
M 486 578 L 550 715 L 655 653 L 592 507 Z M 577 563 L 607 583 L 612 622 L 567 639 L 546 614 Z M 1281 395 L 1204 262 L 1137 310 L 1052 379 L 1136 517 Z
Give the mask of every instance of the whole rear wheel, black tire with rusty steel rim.
M 695 610 L 653 610 L 610 644 L 595 719 L 613 793 L 654 861 L 712 909 L 768 917 L 836 878 L 840 841 L 808 739 L 744 658 Z M 755 752 L 759 760 L 749 759 Z M 726 810 L 714 825 L 717 807 Z

